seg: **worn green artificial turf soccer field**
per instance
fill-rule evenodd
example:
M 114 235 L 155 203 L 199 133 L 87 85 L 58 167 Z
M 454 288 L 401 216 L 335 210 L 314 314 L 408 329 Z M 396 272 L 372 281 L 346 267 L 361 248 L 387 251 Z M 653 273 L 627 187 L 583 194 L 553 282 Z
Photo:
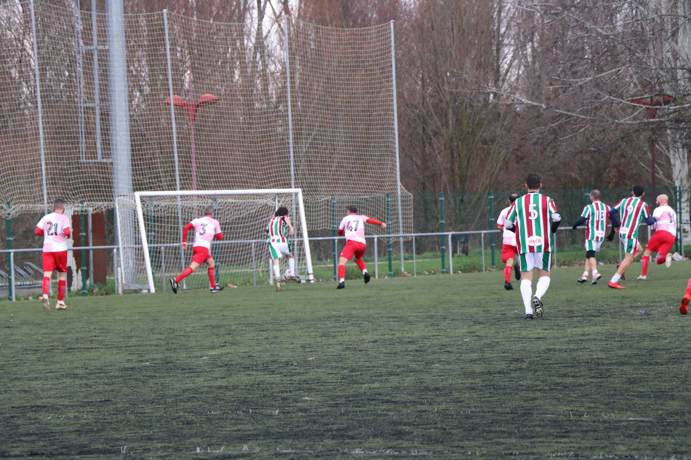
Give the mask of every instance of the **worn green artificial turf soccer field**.
M 688 457 L 691 263 L 640 267 L 3 302 L 0 456 Z

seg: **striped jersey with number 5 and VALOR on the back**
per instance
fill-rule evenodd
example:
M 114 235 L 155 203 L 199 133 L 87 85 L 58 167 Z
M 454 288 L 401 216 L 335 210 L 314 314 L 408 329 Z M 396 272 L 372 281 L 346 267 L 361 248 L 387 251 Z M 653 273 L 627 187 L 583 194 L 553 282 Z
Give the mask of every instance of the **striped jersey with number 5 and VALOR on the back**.
M 513 202 L 507 221 L 515 226 L 518 254 L 553 250 L 551 222 L 556 213 L 554 200 L 538 192 L 529 192 Z

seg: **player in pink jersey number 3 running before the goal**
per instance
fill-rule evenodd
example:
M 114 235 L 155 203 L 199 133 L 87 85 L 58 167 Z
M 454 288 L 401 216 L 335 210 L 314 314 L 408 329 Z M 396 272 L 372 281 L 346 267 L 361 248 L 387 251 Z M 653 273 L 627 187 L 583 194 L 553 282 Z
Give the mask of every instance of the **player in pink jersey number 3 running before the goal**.
M 218 221 L 214 219 L 214 206 L 207 206 L 204 208 L 204 217 L 194 219 L 184 226 L 182 229 L 182 249 L 187 249 L 187 232 L 192 229 L 194 229 L 192 263 L 189 264 L 189 267 L 182 270 L 182 273 L 176 279 L 170 280 L 171 288 L 177 294 L 178 288 L 180 288 L 180 281 L 185 277 L 189 277 L 194 270 L 206 262 L 207 266 L 209 266 L 207 273 L 209 274 L 211 294 L 215 294 L 223 290 L 223 286 L 216 284 L 216 261 L 209 254 L 209 249 L 211 249 L 211 241 L 214 241 L 214 238 L 219 241 L 223 239 L 223 233 L 220 230 Z

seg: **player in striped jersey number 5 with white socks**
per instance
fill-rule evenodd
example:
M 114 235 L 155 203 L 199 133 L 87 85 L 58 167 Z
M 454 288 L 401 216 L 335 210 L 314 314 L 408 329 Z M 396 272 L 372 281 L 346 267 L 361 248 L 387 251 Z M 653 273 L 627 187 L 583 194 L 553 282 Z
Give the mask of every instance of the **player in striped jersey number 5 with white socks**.
M 549 288 L 551 251 L 554 248 L 552 234 L 557 231 L 561 216 L 554 201 L 540 194 L 542 181 L 538 174 L 528 174 L 525 179 L 528 193 L 516 199 L 507 217 L 506 228 L 515 229 L 520 267 L 520 294 L 525 308 L 525 319 L 542 316 L 542 296 Z M 533 268 L 538 269 L 538 284 L 533 295 Z M 532 299 L 531 299 L 532 297 Z

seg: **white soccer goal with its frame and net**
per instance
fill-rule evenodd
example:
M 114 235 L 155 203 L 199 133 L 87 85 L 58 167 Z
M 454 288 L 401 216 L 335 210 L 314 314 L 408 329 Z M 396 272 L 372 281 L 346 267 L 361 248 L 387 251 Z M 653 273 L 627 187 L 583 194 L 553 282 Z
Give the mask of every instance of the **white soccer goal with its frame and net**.
M 135 192 L 118 197 L 117 267 L 123 289 L 166 289 L 170 278 L 189 266 L 193 235 L 182 250 L 182 228 L 214 206 L 223 241 L 211 243 L 216 282 L 258 283 L 269 280 L 271 259 L 264 230 L 279 206 L 288 208 L 295 230 L 290 238 L 301 278 L 313 282 L 303 193 L 299 188 L 256 190 L 171 190 Z M 208 288 L 205 266 L 185 278 L 183 289 Z

